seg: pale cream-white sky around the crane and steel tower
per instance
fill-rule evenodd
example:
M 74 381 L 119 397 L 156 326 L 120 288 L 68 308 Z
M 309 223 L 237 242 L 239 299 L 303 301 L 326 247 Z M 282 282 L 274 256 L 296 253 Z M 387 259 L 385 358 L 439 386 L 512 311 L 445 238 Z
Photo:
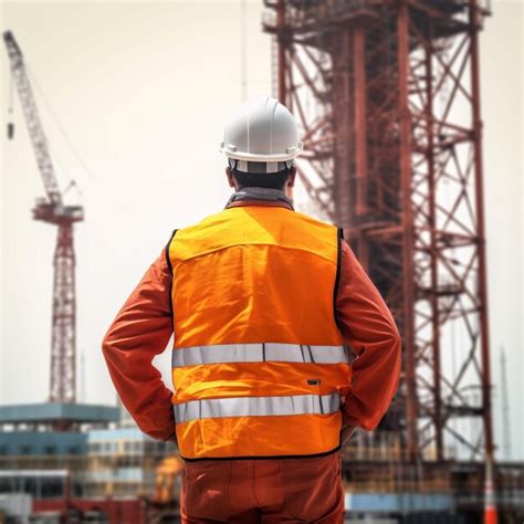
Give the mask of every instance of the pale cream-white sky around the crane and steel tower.
M 481 39 L 495 438 L 502 444 L 504 346 L 518 459 L 524 459 L 522 10 L 517 1 L 494 1 Z M 247 2 L 249 96 L 272 91 L 261 13 L 262 1 Z M 114 402 L 99 348 L 105 331 L 172 229 L 220 210 L 230 195 L 218 145 L 227 116 L 241 101 L 240 14 L 240 0 L 1 2 L 2 31 L 13 31 L 44 95 L 35 87 L 62 187 L 71 174 L 83 191 L 86 220 L 75 234 L 77 347 L 85 360 L 81 400 Z M 1 75 L 0 402 L 42 401 L 49 390 L 55 229 L 31 220 L 43 187 L 17 95 L 15 139 L 6 139 L 4 49 Z M 46 104 L 88 172 L 67 149 Z M 158 364 L 166 381 L 168 353 Z

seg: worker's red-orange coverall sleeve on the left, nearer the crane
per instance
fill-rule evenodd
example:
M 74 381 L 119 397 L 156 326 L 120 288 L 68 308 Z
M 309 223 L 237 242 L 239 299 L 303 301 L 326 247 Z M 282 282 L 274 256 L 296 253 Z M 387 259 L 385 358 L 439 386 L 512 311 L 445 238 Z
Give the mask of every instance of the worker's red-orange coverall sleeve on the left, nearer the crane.
M 122 402 L 140 430 L 176 442 L 172 392 L 151 363 L 172 334 L 170 284 L 163 251 L 116 315 L 102 350 Z

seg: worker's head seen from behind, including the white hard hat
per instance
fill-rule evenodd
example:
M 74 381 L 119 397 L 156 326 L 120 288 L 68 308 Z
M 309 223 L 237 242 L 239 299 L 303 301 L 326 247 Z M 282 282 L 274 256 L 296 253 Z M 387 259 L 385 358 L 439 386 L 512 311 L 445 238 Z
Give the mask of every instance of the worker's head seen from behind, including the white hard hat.
M 295 118 L 279 101 L 258 97 L 242 104 L 228 122 L 221 150 L 230 185 L 283 189 L 293 185 L 293 159 L 302 151 Z

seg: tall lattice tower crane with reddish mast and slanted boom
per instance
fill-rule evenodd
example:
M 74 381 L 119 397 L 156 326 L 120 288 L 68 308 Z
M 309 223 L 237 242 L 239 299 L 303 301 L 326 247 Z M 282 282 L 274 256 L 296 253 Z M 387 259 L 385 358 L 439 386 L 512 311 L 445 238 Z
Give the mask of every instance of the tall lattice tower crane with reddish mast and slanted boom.
M 57 227 L 54 251 L 52 302 L 51 374 L 49 400 L 73 404 L 76 401 L 76 293 L 73 224 L 84 219 L 82 206 L 66 206 L 60 190 L 48 139 L 42 128 L 28 71 L 11 31 L 3 33 L 11 74 L 43 180 L 45 197 L 38 198 L 32 209 L 33 219 Z M 10 138 L 12 125 L 8 127 Z

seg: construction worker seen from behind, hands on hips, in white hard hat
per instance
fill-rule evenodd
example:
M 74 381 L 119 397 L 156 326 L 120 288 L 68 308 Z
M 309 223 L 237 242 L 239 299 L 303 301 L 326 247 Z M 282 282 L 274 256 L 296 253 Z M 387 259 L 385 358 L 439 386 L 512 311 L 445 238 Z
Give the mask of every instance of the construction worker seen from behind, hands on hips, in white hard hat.
M 224 129 L 226 209 L 174 231 L 103 352 L 138 427 L 178 446 L 182 523 L 342 523 L 340 449 L 377 427 L 400 337 L 342 230 L 293 209 L 293 115 Z M 153 366 L 171 335 L 174 391 Z

